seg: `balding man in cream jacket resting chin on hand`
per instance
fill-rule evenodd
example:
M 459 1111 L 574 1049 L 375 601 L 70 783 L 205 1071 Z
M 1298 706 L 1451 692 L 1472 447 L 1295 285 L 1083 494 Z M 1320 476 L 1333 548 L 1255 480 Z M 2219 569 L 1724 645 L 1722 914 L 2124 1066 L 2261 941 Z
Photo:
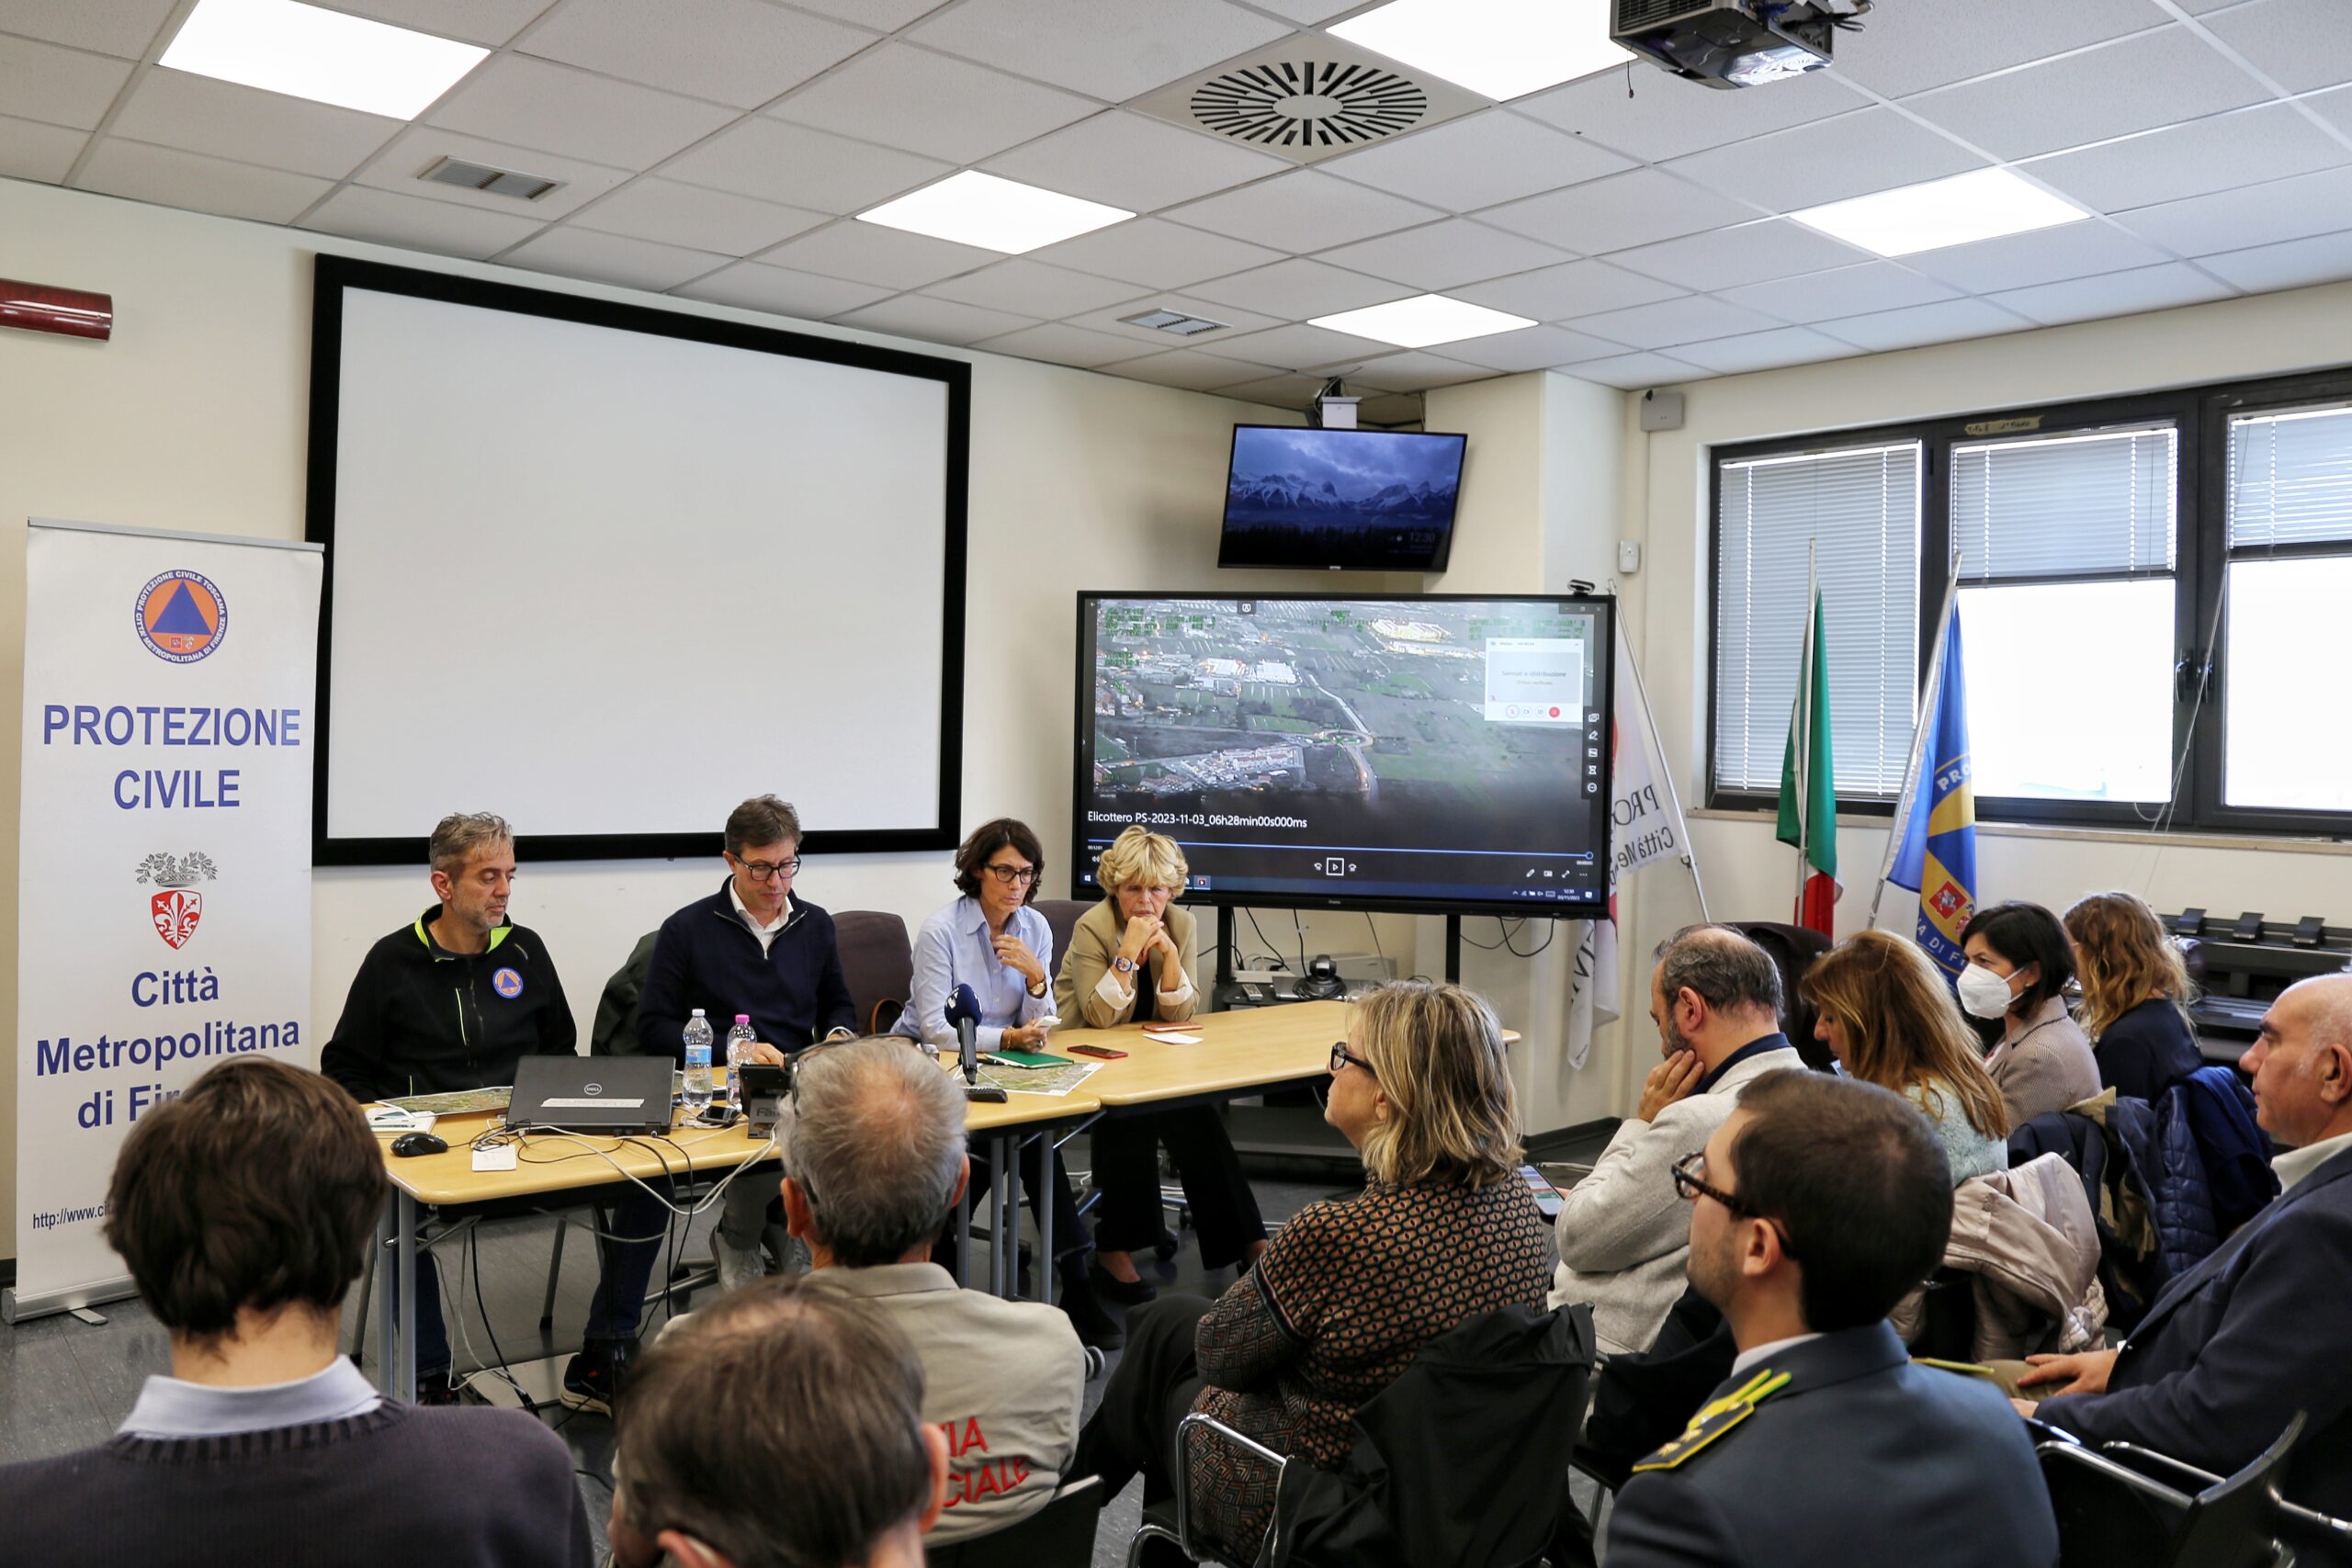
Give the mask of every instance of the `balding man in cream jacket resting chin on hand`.
M 1684 1291 L 1691 1211 L 1668 1168 L 1708 1143 L 1750 1079 L 1804 1067 L 1780 1034 L 1780 969 L 1731 926 L 1684 926 L 1658 945 L 1649 1016 L 1665 1060 L 1552 1222 L 1550 1300 L 1592 1302 L 1611 1354 L 1649 1347 Z

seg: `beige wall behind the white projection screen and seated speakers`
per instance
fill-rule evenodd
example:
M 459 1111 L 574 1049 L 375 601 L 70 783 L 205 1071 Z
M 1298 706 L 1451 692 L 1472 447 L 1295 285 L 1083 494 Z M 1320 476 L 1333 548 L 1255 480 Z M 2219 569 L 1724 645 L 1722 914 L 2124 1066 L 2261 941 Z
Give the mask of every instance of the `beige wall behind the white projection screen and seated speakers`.
M 409 256 L 322 235 L 0 181 L 0 277 L 115 296 L 111 343 L 0 331 L 0 820 L 16 823 L 24 691 L 24 517 L 301 538 L 318 249 L 506 277 L 748 322 L 536 273 Z M 833 327 L 804 327 L 828 336 Z M 1073 595 L 1080 588 L 1279 588 L 1298 574 L 1216 569 L 1228 428 L 1268 409 L 1087 371 L 974 355 L 964 816 L 1016 813 L 1044 839 L 1054 893 L 1070 842 Z M 1272 418 L 1282 418 L 1275 414 Z M 1388 588 L 1338 576 L 1312 588 Z M 790 797 L 793 780 L 762 780 Z M 529 830 L 529 802 L 482 802 Z M 717 823 L 713 839 L 717 837 Z M 426 823 L 419 823 L 419 832 Z M 548 938 L 581 1025 L 604 976 L 673 907 L 717 886 L 694 863 L 524 867 L 515 917 Z M 92 875 L 108 875 L 92 865 Z M 811 860 L 828 907 L 908 922 L 953 896 L 946 853 Z M 310 1039 L 325 1039 L 367 945 L 430 903 L 421 870 L 313 877 Z M 16 839 L 0 835 L 0 990 L 16 990 Z M 1279 922 L 1287 940 L 1289 922 Z M 1268 926 L 1275 933 L 1275 926 Z M 1411 966 L 1411 922 L 1381 940 Z M 1308 947 L 1359 952 L 1362 917 L 1310 917 Z M 5 1009 L 14 1025 L 14 1004 Z M 0 1072 L 0 1215 L 14 1215 L 16 1074 Z M 0 1220 L 0 1227 L 9 1220 Z M 0 1258 L 14 1239 L 0 1234 Z

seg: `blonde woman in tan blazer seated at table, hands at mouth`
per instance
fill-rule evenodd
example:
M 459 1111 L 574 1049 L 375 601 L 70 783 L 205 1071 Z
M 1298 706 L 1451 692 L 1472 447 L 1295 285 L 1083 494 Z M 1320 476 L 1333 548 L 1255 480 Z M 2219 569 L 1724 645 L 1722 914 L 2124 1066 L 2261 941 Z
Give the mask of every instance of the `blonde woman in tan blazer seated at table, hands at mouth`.
M 1096 860 L 1103 900 L 1077 919 L 1054 978 L 1065 1027 L 1178 1023 L 1200 1009 L 1183 969 L 1192 912 L 1176 907 L 1188 877 L 1176 839 L 1129 827 Z M 1094 1138 L 1094 1288 L 1138 1305 L 1157 1291 L 1136 1272 L 1136 1248 L 1160 1241 L 1160 1145 L 1167 1145 L 1200 1232 L 1200 1265 L 1256 1262 L 1265 1251 L 1258 1194 L 1214 1105 L 1120 1117 Z

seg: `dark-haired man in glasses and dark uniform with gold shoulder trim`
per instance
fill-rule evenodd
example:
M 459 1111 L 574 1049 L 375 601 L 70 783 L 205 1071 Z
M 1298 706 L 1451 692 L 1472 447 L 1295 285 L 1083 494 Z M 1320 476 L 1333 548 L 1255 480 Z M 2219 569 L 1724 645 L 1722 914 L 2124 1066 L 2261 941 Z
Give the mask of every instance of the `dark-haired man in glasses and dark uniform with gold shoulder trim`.
M 1738 1359 L 1689 1429 L 1632 1467 L 1609 1568 L 2053 1568 L 2049 1493 L 2002 1392 L 1915 1366 L 1886 1324 L 1952 1227 L 1952 1178 L 1919 1114 L 1875 1084 L 1773 1072 L 1675 1185 L 1691 1197 L 1691 1284 L 1731 1321 Z

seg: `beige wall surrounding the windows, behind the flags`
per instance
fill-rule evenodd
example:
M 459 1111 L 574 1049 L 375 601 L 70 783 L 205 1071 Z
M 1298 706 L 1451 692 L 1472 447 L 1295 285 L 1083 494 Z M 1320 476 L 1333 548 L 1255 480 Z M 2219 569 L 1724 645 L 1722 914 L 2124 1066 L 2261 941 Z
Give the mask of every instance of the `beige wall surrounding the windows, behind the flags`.
M 1644 534 L 1649 545 L 1651 592 L 1637 651 L 1684 802 L 1698 804 L 1705 790 L 1710 447 L 2347 362 L 2352 284 L 2328 284 L 1686 388 L 1682 430 L 1628 437 L 1630 487 L 1646 498 L 1630 496 L 1625 517 L 1625 531 Z M 2091 701 L 2096 679 L 2096 670 L 2070 670 L 2058 686 L 2072 693 L 2065 701 Z M 2063 722 L 2063 710 L 2056 717 Z M 1766 818 L 1710 816 L 1691 825 L 1691 837 L 1719 917 L 1788 919 L 1795 851 L 1773 844 Z M 1837 910 L 1839 931 L 1865 922 L 1884 851 L 1882 823 L 1842 825 L 1837 853 L 1846 896 Z M 2352 860 L 2324 844 L 1987 825 L 1978 835 L 1978 896 L 1987 900 L 2032 898 L 2063 907 L 2086 891 L 2122 886 L 2159 907 L 2352 919 Z M 1886 896 L 1879 924 L 1905 926 L 1898 898 L 1896 891 Z M 1670 926 L 1672 919 L 1644 917 L 1637 933 L 1646 945 Z

